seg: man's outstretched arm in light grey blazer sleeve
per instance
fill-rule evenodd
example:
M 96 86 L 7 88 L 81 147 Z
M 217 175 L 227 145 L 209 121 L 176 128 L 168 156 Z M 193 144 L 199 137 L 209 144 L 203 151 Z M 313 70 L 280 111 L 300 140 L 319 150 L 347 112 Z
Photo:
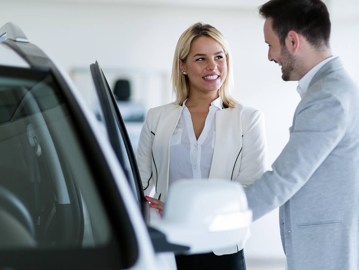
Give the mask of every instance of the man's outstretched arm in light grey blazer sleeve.
M 332 93 L 311 93 L 299 104 L 288 144 L 272 171 L 245 188 L 253 220 L 283 205 L 308 181 L 343 138 L 346 125 L 344 107 Z

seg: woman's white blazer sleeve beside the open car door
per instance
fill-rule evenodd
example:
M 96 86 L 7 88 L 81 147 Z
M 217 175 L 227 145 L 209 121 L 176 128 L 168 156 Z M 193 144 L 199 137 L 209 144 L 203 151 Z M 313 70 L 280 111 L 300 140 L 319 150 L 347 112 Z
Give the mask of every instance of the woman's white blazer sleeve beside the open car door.
M 151 190 L 155 186 L 152 174 L 152 143 L 153 135 L 151 133 L 150 109 L 142 126 L 140 139 L 136 151 L 137 166 L 140 172 L 145 195 L 149 195 Z

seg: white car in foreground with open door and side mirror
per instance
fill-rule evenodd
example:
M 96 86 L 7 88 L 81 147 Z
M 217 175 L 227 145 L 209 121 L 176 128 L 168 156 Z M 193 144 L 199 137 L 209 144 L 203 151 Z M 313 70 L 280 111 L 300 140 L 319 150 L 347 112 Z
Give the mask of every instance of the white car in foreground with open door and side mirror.
M 242 187 L 179 181 L 161 217 L 99 64 L 90 71 L 104 125 L 19 27 L 0 28 L 0 269 L 167 270 L 175 253 L 234 245 L 251 222 Z

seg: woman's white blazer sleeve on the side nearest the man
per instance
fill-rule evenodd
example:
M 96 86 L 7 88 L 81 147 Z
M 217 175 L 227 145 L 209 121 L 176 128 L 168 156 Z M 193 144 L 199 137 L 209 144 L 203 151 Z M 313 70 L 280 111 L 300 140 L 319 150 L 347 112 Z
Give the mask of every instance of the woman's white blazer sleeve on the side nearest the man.
M 267 145 L 261 111 L 253 112 L 243 127 L 241 153 L 241 166 L 236 181 L 247 187 L 265 172 Z

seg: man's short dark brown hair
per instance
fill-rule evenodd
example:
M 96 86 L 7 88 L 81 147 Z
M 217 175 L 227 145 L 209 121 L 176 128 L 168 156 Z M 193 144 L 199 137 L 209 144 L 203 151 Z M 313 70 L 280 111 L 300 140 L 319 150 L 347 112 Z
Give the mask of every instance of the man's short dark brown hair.
M 272 29 L 282 46 L 288 32 L 302 34 L 308 42 L 329 47 L 331 23 L 326 5 L 321 0 L 270 0 L 259 7 L 262 18 L 272 19 Z

